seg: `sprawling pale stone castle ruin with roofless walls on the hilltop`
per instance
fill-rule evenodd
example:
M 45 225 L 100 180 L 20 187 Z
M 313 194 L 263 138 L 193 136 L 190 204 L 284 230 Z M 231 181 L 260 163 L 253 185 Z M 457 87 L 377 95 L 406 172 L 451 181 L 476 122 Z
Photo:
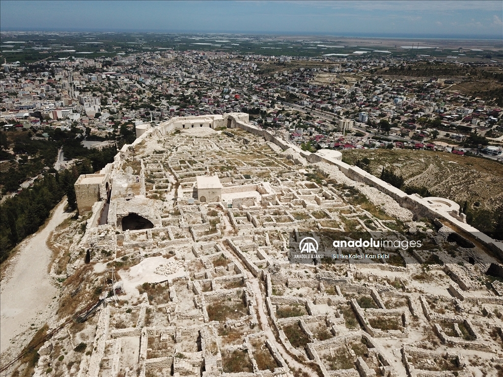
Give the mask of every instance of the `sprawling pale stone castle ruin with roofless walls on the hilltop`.
M 247 114 L 141 131 L 75 183 L 89 219 L 67 267 L 82 282 L 68 287 L 108 288 L 87 322 L 44 344 L 36 375 L 48 363 L 47 375 L 141 377 L 503 370 L 503 246 L 455 203 L 406 195 L 340 152 L 302 151 Z M 395 230 L 428 239 L 431 253 L 289 262 L 290 232 Z

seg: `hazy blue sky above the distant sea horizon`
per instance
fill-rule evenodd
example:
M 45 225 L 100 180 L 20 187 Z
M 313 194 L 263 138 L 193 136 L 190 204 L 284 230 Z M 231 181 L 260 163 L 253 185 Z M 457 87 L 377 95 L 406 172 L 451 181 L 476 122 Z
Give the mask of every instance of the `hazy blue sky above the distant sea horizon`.
M 1 30 L 503 38 L 503 1 L 0 1 Z

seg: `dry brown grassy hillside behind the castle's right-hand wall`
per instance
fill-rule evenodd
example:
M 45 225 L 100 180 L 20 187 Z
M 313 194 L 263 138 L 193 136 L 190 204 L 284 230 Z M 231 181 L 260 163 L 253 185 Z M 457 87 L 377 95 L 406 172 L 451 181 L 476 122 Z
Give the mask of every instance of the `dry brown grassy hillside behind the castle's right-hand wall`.
M 403 178 L 402 190 L 426 189 L 461 205 L 467 222 L 499 238 L 503 221 L 503 164 L 446 152 L 377 149 L 343 152 L 343 161 L 376 176 L 384 169 Z M 416 190 L 421 192 L 421 190 Z

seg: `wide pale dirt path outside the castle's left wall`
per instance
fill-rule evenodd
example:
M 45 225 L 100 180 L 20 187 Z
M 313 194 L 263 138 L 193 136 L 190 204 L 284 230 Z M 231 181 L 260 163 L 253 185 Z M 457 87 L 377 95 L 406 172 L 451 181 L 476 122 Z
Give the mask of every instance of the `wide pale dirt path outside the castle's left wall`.
M 38 329 L 46 322 L 57 289 L 51 284 L 47 266 L 52 251 L 46 241 L 51 232 L 63 220 L 71 216 L 65 213 L 66 198 L 53 210 L 47 225 L 25 239 L 14 256 L 10 271 L 0 289 L 0 353 L 9 348 L 11 340 L 35 324 Z M 19 344 L 19 346 L 23 346 Z

